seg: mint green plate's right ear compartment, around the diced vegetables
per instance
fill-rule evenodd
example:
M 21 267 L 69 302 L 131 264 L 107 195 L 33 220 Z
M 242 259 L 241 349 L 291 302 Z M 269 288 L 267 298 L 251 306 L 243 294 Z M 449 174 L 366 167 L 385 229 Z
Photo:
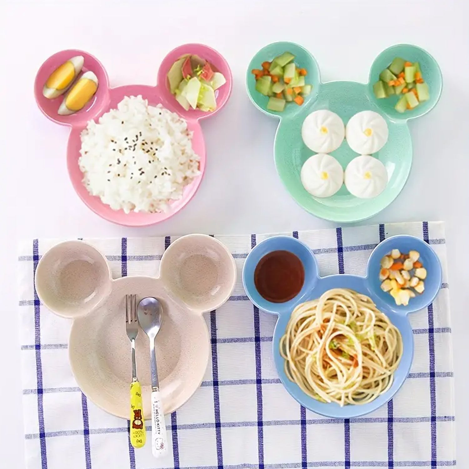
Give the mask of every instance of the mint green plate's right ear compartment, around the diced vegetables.
M 396 57 L 410 62 L 418 62 L 422 71 L 422 78 L 428 84 L 430 90 L 430 99 L 423 101 L 414 109 L 406 110 L 404 113 L 400 113 L 394 108 L 399 99 L 397 95 L 378 99 L 373 92 L 373 85 L 379 80 L 379 74 L 389 67 Z M 407 121 L 408 119 L 414 119 L 430 112 L 438 103 L 442 86 L 443 78 L 441 70 L 437 61 L 428 52 L 416 45 L 398 44 L 388 47 L 380 53 L 373 62 L 373 65 L 371 65 L 368 95 L 371 102 L 378 106 L 393 121 Z

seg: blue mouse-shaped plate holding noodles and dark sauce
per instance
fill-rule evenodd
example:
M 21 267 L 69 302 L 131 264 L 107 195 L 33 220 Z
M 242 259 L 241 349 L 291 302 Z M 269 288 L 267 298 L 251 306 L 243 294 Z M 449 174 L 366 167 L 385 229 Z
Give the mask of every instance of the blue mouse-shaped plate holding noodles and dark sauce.
M 411 298 L 408 306 L 397 306 L 393 297 L 380 288 L 379 270 L 381 258 L 390 253 L 392 249 L 401 252 L 416 250 L 420 253 L 420 259 L 427 270 L 425 290 L 422 295 Z M 254 271 L 262 257 L 272 251 L 287 250 L 299 257 L 304 266 L 305 280 L 300 293 L 286 303 L 271 303 L 265 300 L 254 285 Z M 252 303 L 259 309 L 278 316 L 273 333 L 272 347 L 275 367 L 280 380 L 287 391 L 304 407 L 317 414 L 333 418 L 359 417 L 385 404 L 404 383 L 410 371 L 414 356 L 414 339 L 412 326 L 408 320 L 408 313 L 412 313 L 427 307 L 438 294 L 441 286 L 442 269 L 438 256 L 424 241 L 408 235 L 392 236 L 380 242 L 373 250 L 368 260 L 366 277 L 357 275 L 336 274 L 327 277 L 319 277 L 318 264 L 310 248 L 303 242 L 288 236 L 274 236 L 259 243 L 246 257 L 242 271 L 242 282 L 246 294 Z M 305 394 L 299 386 L 290 381 L 284 371 L 285 360 L 280 356 L 280 339 L 285 333 L 288 320 L 294 308 L 305 301 L 318 298 L 331 288 L 349 288 L 363 295 L 369 296 L 379 310 L 384 312 L 391 322 L 399 329 L 403 341 L 403 355 L 401 363 L 394 373 L 394 381 L 391 388 L 378 396 L 372 402 L 363 405 L 346 405 L 340 407 L 336 403 L 324 403 Z

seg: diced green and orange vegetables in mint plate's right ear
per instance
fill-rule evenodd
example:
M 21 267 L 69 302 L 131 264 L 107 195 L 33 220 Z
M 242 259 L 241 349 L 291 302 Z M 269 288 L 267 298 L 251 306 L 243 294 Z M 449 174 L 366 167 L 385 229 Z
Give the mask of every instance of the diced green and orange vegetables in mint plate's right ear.
M 373 85 L 373 92 L 378 99 L 401 96 L 394 106 L 399 113 L 414 109 L 421 102 L 430 99 L 428 84 L 424 81 L 420 64 L 400 57 L 394 58 L 391 65 L 379 74 L 379 80 Z

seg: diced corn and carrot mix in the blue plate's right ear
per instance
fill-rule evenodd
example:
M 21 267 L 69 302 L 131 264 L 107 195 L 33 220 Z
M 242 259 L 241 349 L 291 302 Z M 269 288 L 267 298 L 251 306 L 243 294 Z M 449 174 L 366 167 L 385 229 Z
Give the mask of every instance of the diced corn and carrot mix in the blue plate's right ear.
M 427 270 L 419 259 L 417 251 L 401 254 L 398 249 L 393 249 L 381 259 L 381 290 L 389 292 L 398 306 L 407 306 L 416 293 L 424 292 Z

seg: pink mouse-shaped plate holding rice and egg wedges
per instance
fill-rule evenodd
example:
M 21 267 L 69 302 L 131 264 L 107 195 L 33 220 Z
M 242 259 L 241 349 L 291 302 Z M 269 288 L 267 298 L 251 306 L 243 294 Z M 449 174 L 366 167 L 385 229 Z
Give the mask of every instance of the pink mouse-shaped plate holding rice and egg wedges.
M 184 54 L 198 55 L 209 61 L 225 76 L 227 83 L 215 92 L 217 98 L 217 108 L 215 111 L 208 113 L 192 109 L 185 111 L 168 90 L 167 72 L 173 63 Z M 57 110 L 62 102 L 63 96 L 59 96 L 55 99 L 47 99 L 43 96 L 42 89 L 50 74 L 62 63 L 76 55 L 83 55 L 84 57 L 84 65 L 81 73 L 91 70 L 98 77 L 98 91 L 81 111 L 68 116 L 61 116 L 57 113 Z M 34 95 L 39 109 L 47 118 L 53 122 L 71 128 L 67 146 L 68 174 L 70 175 L 76 193 L 83 202 L 88 205 L 93 212 L 108 221 L 129 227 L 144 227 L 170 218 L 174 213 L 179 212 L 196 193 L 205 170 L 205 143 L 199 121 L 218 113 L 227 103 L 231 94 L 232 83 L 233 77 L 227 61 L 217 51 L 202 44 L 181 45 L 168 53 L 159 67 L 156 86 L 126 85 L 118 88 L 109 87 L 109 79 L 106 70 L 95 57 L 83 51 L 70 49 L 54 54 L 42 64 L 34 83 Z M 179 114 L 185 119 L 189 130 L 193 133 L 192 148 L 200 157 L 200 175 L 184 188 L 182 198 L 173 201 L 167 212 L 125 213 L 123 210 L 113 210 L 109 205 L 101 202 L 99 197 L 92 196 L 82 182 L 83 173 L 78 166 L 81 148 L 80 133 L 86 127 L 88 121 L 92 119 L 97 120 L 110 109 L 116 108 L 117 104 L 125 96 L 137 95 L 142 95 L 144 99 L 148 100 L 148 104 L 151 106 L 156 106 L 161 103 L 166 109 Z

